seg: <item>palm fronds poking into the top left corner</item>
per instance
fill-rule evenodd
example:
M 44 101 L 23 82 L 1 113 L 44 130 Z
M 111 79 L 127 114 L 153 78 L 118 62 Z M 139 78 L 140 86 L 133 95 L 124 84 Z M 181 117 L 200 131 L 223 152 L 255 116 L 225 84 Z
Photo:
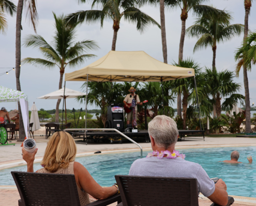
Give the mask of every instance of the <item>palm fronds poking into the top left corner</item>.
M 7 21 L 5 13 L 13 16 L 17 12 L 17 7 L 9 0 L 0 0 L 0 33 L 5 33 L 7 30 Z

